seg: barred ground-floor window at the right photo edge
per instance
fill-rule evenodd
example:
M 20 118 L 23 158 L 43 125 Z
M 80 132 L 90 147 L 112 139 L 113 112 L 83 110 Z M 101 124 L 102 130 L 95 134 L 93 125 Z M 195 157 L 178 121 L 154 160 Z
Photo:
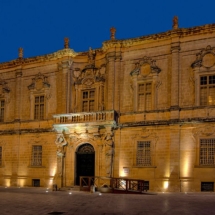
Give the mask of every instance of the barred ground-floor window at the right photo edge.
M 200 139 L 200 161 L 202 166 L 214 166 L 215 139 Z

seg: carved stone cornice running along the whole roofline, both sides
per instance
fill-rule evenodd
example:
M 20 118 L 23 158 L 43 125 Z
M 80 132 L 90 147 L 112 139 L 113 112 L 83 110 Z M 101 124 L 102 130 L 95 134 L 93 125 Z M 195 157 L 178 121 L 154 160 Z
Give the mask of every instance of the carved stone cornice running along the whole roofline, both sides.
M 172 37 L 178 36 L 179 38 L 185 36 L 193 36 L 193 35 L 200 35 L 200 34 L 207 34 L 215 32 L 215 23 L 207 24 L 203 26 L 191 27 L 191 28 L 178 28 L 170 31 L 166 31 L 164 33 L 159 34 L 151 34 L 146 35 L 138 38 L 132 39 L 125 39 L 125 40 L 108 40 L 103 42 L 103 46 L 101 49 L 97 49 L 96 52 L 104 52 L 107 51 L 109 48 L 126 48 L 130 46 L 142 45 L 148 43 L 149 41 L 154 42 L 155 40 L 164 40 L 164 39 L 171 39 Z M 57 60 L 63 57 L 76 57 L 86 55 L 88 53 L 85 52 L 75 52 L 73 49 L 66 48 L 59 50 L 57 52 L 30 57 L 30 58 L 17 58 L 15 60 L 0 63 L 0 69 L 7 69 L 12 68 L 20 65 L 27 65 L 31 63 L 41 63 L 41 62 L 49 62 L 52 60 Z

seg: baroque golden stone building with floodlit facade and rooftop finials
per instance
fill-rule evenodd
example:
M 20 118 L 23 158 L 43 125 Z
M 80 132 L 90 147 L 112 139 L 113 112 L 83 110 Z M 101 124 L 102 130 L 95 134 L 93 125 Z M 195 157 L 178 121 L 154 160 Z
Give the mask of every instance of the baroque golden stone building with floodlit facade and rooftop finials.
M 81 175 L 213 191 L 215 24 L 0 64 L 0 185 Z

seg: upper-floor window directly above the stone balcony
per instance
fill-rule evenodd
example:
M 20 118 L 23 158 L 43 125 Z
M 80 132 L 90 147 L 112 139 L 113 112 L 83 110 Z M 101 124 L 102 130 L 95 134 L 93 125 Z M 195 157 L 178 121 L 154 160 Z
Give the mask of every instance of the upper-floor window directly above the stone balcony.
M 95 110 L 95 90 L 85 90 L 82 92 L 82 111 Z

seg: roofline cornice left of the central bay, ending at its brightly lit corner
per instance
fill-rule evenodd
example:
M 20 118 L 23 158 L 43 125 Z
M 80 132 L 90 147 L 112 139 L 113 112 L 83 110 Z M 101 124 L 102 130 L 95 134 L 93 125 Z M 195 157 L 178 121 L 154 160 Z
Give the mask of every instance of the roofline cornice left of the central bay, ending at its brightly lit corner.
M 78 55 L 78 53 L 74 52 L 73 49 L 62 49 L 57 52 L 42 55 L 42 56 L 36 56 L 31 58 L 18 58 L 16 60 L 12 60 L 5 63 L 0 63 L 0 69 L 7 69 L 12 68 L 20 65 L 27 65 L 31 63 L 41 63 L 41 62 L 48 62 L 52 60 L 57 60 L 63 57 L 75 57 Z

